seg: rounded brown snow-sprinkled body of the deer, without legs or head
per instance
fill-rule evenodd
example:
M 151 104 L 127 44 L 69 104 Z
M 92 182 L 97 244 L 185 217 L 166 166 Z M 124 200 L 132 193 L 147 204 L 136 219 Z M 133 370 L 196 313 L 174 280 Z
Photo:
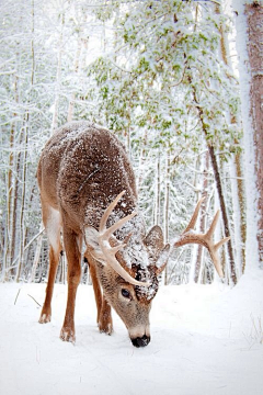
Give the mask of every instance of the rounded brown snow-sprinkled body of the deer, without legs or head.
M 126 191 L 124 215 L 136 207 L 135 177 L 124 146 L 108 131 L 75 122 L 59 128 L 45 146 L 38 165 L 42 199 L 65 214 L 77 233 L 99 227 L 104 210 Z

